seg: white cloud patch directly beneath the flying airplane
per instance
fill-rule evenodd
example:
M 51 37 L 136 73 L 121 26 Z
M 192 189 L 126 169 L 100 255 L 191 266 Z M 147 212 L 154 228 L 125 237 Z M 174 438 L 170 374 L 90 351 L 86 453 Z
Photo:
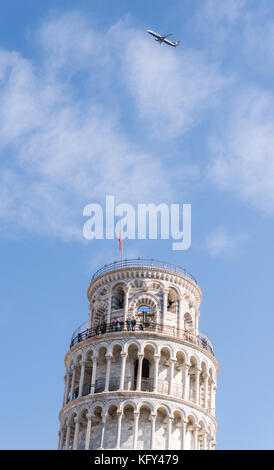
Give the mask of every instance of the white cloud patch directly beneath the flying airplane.
M 215 64 L 185 46 L 159 47 L 138 31 L 132 37 L 123 71 L 139 115 L 154 137 L 179 136 L 216 106 L 225 79 Z

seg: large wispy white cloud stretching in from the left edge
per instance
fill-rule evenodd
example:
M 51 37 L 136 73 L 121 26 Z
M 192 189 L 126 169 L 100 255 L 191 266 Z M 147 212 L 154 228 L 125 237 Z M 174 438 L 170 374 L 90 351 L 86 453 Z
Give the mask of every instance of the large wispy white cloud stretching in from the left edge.
M 163 191 L 169 196 L 161 162 L 134 148 L 117 113 L 94 97 L 75 97 L 77 84 L 66 77 L 62 67 L 67 62 L 60 59 L 69 56 L 60 38 L 62 26 L 68 35 L 70 21 L 75 16 L 42 27 L 40 37 L 46 30 L 50 41 L 39 66 L 18 53 L 0 51 L 0 217 L 5 232 L 21 227 L 81 237 L 84 204 L 104 199 L 106 193 L 128 202 L 139 196 L 155 199 Z M 79 28 L 80 39 L 89 34 L 81 21 L 71 28 L 75 34 Z M 60 52 L 56 60 L 55 51 L 51 53 L 55 31 Z M 87 43 L 89 51 L 97 47 L 91 40 Z M 89 86 L 88 78 L 85 84 Z

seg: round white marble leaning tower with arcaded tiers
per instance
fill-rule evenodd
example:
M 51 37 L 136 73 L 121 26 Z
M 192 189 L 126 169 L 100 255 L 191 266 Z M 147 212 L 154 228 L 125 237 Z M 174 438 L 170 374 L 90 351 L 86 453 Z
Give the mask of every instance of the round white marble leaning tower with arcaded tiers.
M 215 447 L 218 363 L 185 269 L 125 260 L 97 271 L 65 356 L 59 449 Z

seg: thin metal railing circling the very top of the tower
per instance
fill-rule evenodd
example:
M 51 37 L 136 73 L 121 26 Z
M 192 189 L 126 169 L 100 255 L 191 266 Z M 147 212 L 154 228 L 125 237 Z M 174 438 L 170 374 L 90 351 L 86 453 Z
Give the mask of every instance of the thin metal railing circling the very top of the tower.
M 165 263 L 163 261 L 157 261 L 154 259 L 145 259 L 145 258 L 137 258 L 137 259 L 125 259 L 122 261 L 114 261 L 114 263 L 110 264 L 105 264 L 102 268 L 98 269 L 96 271 L 91 280 L 94 281 L 94 279 L 97 279 L 97 277 L 101 276 L 102 274 L 105 274 L 110 271 L 115 271 L 116 269 L 121 269 L 121 268 L 158 268 L 158 269 L 165 269 L 168 271 L 172 271 L 176 274 L 182 274 L 183 276 L 188 277 L 192 281 L 194 281 L 196 284 L 197 281 L 194 276 L 185 268 L 181 268 L 180 266 L 177 266 L 176 264 L 171 264 L 171 263 Z

